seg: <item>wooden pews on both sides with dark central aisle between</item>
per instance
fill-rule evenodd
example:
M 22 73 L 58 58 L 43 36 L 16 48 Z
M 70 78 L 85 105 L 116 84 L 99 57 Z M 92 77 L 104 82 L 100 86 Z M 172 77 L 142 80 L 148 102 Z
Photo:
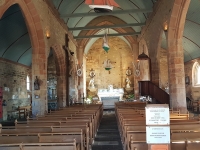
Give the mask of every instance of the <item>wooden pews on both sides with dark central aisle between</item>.
M 0 129 L 0 150 L 147 150 L 144 102 L 118 102 L 115 110 L 102 104 L 74 105 Z M 158 105 L 160 106 L 160 105 Z M 199 117 L 169 110 L 171 150 L 198 150 Z

